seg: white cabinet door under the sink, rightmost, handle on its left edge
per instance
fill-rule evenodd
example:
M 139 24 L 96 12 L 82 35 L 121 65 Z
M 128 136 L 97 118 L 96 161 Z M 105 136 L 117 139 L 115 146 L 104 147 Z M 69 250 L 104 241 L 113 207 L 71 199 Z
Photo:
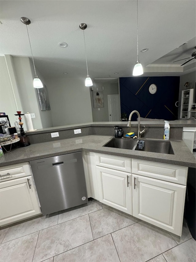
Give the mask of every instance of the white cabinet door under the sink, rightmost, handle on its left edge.
M 132 174 L 133 216 L 182 234 L 186 186 Z

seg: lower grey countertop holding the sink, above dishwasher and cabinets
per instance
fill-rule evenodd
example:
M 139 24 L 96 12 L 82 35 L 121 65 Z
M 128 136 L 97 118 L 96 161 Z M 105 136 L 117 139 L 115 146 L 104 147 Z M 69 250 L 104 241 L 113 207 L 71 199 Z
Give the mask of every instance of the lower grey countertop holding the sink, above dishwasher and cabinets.
M 170 140 L 175 153 L 173 155 L 103 147 L 112 138 L 113 136 L 88 135 L 77 138 L 37 143 L 32 144 L 28 147 L 19 147 L 16 149 L 12 149 L 9 153 L 5 153 L 3 156 L 1 156 L 0 166 L 28 162 L 31 160 L 57 156 L 61 154 L 68 154 L 78 151 L 91 151 L 101 154 L 110 154 L 195 168 L 195 157 L 193 156 L 193 154 L 191 154 L 190 150 L 183 142 L 183 140 Z

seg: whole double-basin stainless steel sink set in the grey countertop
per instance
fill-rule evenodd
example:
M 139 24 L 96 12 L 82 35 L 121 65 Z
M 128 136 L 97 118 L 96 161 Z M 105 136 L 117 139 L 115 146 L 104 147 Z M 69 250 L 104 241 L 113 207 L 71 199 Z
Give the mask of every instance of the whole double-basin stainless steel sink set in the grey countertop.
M 138 148 L 139 141 L 144 141 L 143 149 Z M 147 151 L 162 154 L 174 154 L 170 141 L 157 141 L 148 139 L 113 138 L 104 147 L 130 149 L 136 151 Z

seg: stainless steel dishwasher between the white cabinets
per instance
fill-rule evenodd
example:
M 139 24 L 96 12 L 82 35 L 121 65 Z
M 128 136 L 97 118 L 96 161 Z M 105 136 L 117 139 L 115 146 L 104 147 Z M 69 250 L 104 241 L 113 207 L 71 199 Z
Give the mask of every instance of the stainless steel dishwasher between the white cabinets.
M 30 161 L 43 215 L 88 203 L 82 153 Z

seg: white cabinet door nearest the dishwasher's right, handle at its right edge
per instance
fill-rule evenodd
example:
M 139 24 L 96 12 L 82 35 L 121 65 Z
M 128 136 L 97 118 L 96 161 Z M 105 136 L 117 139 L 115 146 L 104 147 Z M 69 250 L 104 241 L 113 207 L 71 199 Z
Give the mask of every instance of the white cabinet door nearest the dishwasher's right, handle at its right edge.
M 131 174 L 96 166 L 100 202 L 132 215 Z

